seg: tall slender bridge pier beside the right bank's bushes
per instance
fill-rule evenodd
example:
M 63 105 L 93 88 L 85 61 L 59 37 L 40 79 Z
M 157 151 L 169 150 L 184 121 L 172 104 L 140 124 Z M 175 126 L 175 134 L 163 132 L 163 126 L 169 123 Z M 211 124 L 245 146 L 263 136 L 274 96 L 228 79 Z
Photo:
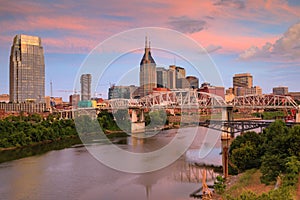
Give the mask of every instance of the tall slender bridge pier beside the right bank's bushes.
M 223 119 L 228 122 L 233 121 L 233 107 L 225 107 L 222 111 Z M 231 139 L 233 138 L 232 127 L 223 126 L 223 132 L 221 136 L 222 143 L 222 166 L 223 166 L 223 176 L 228 178 L 228 163 L 229 163 L 229 147 L 231 144 Z

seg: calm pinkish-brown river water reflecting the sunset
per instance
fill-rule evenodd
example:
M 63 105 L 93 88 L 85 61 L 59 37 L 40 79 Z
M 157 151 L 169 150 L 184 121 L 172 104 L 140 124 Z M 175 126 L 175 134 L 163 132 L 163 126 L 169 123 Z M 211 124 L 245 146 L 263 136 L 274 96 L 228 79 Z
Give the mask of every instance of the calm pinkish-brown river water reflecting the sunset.
M 189 134 L 191 129 L 186 128 L 184 132 Z M 151 146 L 159 148 L 163 144 L 161 141 L 172 139 L 171 136 L 176 134 L 174 131 L 163 131 L 142 141 L 133 137 L 117 138 L 110 145 L 121 149 L 145 147 L 149 151 Z M 192 145 L 178 160 L 149 173 L 134 174 L 111 169 L 95 159 L 84 146 L 4 162 L 0 164 L 0 199 L 193 199 L 190 194 L 201 187 L 203 169 L 206 169 L 208 184 L 212 184 L 218 174 L 195 163 L 221 165 L 219 134 L 198 128 Z M 218 142 L 213 144 L 204 159 L 200 159 L 200 147 L 209 146 L 212 137 L 218 137 Z

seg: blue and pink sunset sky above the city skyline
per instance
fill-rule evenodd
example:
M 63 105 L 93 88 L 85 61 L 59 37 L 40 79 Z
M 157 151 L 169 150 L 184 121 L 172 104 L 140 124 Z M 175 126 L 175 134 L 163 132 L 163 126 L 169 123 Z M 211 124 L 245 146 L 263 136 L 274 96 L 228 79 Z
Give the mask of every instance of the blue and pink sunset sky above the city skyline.
M 234 74 L 248 72 L 253 75 L 254 85 L 262 87 L 264 93 L 272 92 L 276 86 L 300 91 L 298 0 L 131 0 L 126 3 L 121 0 L 0 0 L 0 27 L 0 94 L 9 93 L 9 55 L 17 34 L 41 37 L 46 95 L 50 95 L 52 81 L 53 96 L 68 100 L 68 95 L 76 89 L 74 80 L 95 48 L 103 48 L 101 44 L 124 31 L 143 27 L 175 30 L 202 46 L 225 88 L 232 86 Z M 125 84 L 121 80 L 124 74 L 131 73 L 132 84 L 139 84 L 138 66 L 145 36 L 151 40 L 156 63 L 165 67 L 176 63 L 187 68 L 187 75 L 198 76 L 180 55 L 164 56 L 155 48 L 165 39 L 184 50 L 187 47 L 180 38 L 175 40 L 168 34 L 157 38 L 151 34 L 148 31 L 135 35 L 134 41 L 140 43 L 140 49 L 118 57 L 105 78 L 94 87 L 95 93 L 107 97 L 111 84 Z M 114 45 L 115 48 L 104 49 L 104 55 L 116 52 L 116 46 L 123 43 Z M 201 81 L 205 77 L 200 77 Z

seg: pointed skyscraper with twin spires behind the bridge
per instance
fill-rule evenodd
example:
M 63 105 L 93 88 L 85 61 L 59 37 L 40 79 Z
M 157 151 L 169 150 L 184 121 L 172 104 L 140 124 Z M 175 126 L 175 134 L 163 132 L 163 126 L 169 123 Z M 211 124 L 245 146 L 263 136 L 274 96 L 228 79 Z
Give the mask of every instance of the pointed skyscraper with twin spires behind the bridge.
M 157 86 L 156 63 L 151 56 L 150 43 L 146 38 L 145 53 L 140 63 L 140 96 L 146 96 Z

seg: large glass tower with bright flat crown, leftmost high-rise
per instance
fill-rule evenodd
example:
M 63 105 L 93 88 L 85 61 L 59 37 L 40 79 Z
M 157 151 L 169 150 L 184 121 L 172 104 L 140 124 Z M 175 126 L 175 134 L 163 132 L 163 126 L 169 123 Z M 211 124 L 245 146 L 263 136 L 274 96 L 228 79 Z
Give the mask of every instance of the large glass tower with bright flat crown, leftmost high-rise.
M 45 101 L 45 63 L 41 38 L 16 35 L 11 47 L 9 69 L 11 102 Z

